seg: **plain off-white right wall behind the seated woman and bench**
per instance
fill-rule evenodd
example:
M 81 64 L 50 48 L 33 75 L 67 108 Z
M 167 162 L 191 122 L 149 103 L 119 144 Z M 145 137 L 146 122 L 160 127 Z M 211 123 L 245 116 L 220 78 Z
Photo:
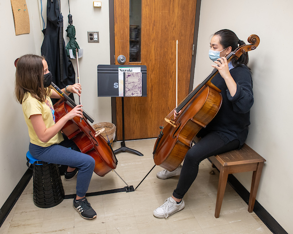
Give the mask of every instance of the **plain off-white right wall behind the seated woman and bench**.
M 251 34 L 260 38 L 249 52 L 254 104 L 246 143 L 263 156 L 265 163 L 257 201 L 288 232 L 293 233 L 291 39 L 293 1 L 202 0 L 194 86 L 211 72 L 209 40 L 228 28 L 247 43 Z M 252 173 L 235 174 L 250 191 Z

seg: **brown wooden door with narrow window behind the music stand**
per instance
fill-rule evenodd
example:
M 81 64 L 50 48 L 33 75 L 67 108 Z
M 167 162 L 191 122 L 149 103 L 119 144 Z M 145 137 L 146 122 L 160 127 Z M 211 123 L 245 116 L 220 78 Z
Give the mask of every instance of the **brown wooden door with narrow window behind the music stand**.
M 130 0 L 134 1 L 134 0 Z M 146 65 L 147 97 L 124 98 L 125 139 L 158 137 L 175 108 L 176 40 L 178 104 L 188 95 L 196 0 L 141 0 L 141 61 L 129 61 L 129 0 L 114 0 L 115 64 Z M 132 2 L 133 4 L 133 2 Z M 193 78 L 192 78 L 193 80 Z M 117 139 L 122 140 L 122 98 L 116 98 Z

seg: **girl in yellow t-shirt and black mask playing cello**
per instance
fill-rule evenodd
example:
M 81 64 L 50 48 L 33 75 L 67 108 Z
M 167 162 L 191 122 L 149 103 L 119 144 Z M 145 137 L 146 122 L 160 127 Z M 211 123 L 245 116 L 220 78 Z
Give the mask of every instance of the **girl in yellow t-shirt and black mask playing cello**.
M 95 167 L 95 160 L 81 152 L 73 141 L 64 140 L 61 129 L 73 117 L 83 117 L 82 105 L 77 105 L 55 123 L 54 108 L 51 98 L 60 98 L 48 88 L 52 74 L 46 60 L 37 55 L 24 55 L 16 64 L 15 94 L 22 105 L 23 116 L 30 137 L 29 151 L 38 160 L 54 164 L 68 165 L 65 178 L 71 179 L 77 174 L 76 198 L 74 208 L 86 219 L 97 216 L 85 198 L 86 191 Z M 80 84 L 68 85 L 62 92 L 76 93 L 82 91 Z M 51 97 L 51 98 L 50 98 Z

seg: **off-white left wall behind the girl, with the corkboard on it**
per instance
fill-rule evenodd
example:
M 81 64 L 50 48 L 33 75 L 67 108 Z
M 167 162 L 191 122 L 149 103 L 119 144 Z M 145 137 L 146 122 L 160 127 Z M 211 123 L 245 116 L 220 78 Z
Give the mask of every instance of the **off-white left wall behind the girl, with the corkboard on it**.
M 21 105 L 14 98 L 14 60 L 23 54 L 37 53 L 42 44 L 38 2 L 26 0 L 30 16 L 30 34 L 15 36 L 10 1 L 0 1 L 0 206 L 11 194 L 24 172 L 29 138 Z

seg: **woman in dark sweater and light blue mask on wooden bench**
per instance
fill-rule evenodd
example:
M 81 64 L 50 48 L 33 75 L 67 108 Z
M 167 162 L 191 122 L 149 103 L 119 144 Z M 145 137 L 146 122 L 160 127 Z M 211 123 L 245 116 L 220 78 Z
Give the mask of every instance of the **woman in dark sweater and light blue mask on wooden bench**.
M 240 148 L 244 144 L 253 104 L 251 72 L 247 67 L 248 54 L 245 53 L 238 60 L 233 58 L 229 63 L 224 57 L 243 44 L 245 43 L 228 29 L 216 32 L 211 38 L 209 58 L 215 63 L 211 66 L 219 71 L 211 82 L 221 89 L 222 105 L 207 128 L 200 131 L 201 140 L 188 150 L 183 166 L 180 165 L 173 172 L 163 170 L 157 173 L 157 177 L 161 179 L 176 175 L 180 177 L 173 195 L 154 210 L 155 217 L 167 218 L 184 208 L 183 197 L 195 180 L 202 160 Z

